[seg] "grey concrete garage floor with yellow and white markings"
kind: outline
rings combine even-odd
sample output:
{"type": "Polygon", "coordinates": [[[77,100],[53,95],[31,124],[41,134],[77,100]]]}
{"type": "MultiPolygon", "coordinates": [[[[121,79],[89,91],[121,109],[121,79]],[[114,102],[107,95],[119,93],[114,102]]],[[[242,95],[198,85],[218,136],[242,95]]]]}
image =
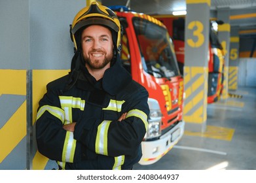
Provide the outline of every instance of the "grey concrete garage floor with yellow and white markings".
{"type": "Polygon", "coordinates": [[[229,91],[229,97],[208,105],[205,133],[185,131],[170,152],[153,165],[135,170],[255,170],[256,88],[229,91]]]}

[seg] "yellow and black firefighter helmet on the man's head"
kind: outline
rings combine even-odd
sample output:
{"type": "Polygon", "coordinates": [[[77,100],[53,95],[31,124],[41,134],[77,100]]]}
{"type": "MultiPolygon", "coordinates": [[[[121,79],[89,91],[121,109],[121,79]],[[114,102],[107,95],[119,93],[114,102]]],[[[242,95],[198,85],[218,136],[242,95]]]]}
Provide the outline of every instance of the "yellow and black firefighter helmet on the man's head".
{"type": "Polygon", "coordinates": [[[103,25],[111,29],[113,42],[117,46],[117,49],[120,49],[120,39],[121,39],[121,26],[119,18],[108,7],[99,5],[96,1],[92,2],[90,6],[82,8],[73,20],[71,25],[71,39],[75,44],[75,50],[80,44],[81,37],[79,34],[81,28],[84,28],[88,25],[103,25]],[[113,34],[114,33],[114,34],[113,34]]]}

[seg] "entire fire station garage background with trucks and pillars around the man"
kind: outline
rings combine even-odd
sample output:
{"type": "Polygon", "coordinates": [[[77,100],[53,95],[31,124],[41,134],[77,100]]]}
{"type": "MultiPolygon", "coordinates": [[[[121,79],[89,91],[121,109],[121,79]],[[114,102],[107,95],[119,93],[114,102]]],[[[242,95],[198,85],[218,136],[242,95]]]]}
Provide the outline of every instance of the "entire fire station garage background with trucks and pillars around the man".
{"type": "MultiPolygon", "coordinates": [[[[92,0],[0,0],[0,169],[58,169],[37,150],[46,84],[69,72],[69,25],[92,0]]],[[[122,65],[149,92],[134,170],[256,169],[256,1],[101,0],[122,65]]]]}

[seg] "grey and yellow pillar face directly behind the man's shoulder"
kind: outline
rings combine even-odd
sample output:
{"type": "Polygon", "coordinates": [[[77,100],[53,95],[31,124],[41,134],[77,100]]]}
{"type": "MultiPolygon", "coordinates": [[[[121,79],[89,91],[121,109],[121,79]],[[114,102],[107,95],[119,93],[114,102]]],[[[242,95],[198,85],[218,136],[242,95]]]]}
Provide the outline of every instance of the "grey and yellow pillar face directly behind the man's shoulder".
{"type": "MultiPolygon", "coordinates": [[[[29,0],[29,121],[32,125],[30,169],[52,169],[54,161],[37,151],[35,119],[38,102],[46,92],[46,84],[67,75],[73,57],[69,24],[86,6],[86,1],[29,0]]],[[[54,167],[56,168],[56,167],[54,167]]]]}

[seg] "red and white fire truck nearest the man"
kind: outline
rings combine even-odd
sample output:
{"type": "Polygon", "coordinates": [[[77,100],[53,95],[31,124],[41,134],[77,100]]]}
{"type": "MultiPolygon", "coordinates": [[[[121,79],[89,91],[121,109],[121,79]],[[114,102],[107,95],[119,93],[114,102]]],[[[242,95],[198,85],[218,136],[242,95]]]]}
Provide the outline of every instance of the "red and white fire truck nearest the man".
{"type": "Polygon", "coordinates": [[[122,64],[149,92],[149,129],[141,165],[158,161],[183,136],[183,76],[171,38],[162,22],[126,7],[110,7],[123,27],[122,64]]]}

